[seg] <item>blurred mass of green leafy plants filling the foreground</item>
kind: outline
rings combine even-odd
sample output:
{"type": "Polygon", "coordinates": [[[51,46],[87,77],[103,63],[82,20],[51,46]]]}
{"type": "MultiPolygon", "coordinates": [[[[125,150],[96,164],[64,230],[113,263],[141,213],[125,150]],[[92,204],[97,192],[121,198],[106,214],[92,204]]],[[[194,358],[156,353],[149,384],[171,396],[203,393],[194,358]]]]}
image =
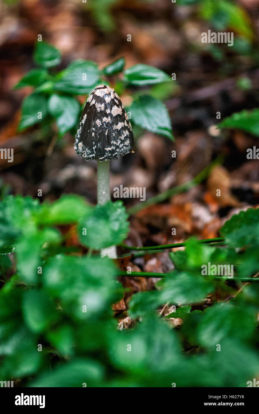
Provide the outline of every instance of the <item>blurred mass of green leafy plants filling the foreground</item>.
{"type": "Polygon", "coordinates": [[[141,321],[122,331],[111,305],[122,298],[123,272],[98,254],[127,237],[121,202],[91,207],[76,195],[52,204],[8,196],[0,229],[2,379],[33,387],[247,387],[256,378],[259,209],[228,220],[223,245],[190,239],[170,253],[175,270],[161,274],[155,290],[133,295],[129,315],[141,321]],[[61,231],[68,224],[82,243],[73,248],[61,231]],[[233,277],[201,272],[212,264],[233,265],[233,277]],[[165,303],[175,311],[159,317],[165,303]],[[180,330],[170,318],[181,318],[180,330]]]}

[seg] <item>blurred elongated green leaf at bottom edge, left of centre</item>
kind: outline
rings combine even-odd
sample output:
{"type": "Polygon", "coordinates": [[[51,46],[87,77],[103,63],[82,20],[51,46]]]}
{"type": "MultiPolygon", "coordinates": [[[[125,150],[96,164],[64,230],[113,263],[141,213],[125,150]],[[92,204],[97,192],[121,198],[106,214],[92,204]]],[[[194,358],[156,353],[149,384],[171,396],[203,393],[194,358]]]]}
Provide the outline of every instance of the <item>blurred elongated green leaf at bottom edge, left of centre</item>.
{"type": "Polygon", "coordinates": [[[76,359],[46,372],[34,380],[30,387],[99,387],[103,380],[104,368],[92,359],[76,359]]]}

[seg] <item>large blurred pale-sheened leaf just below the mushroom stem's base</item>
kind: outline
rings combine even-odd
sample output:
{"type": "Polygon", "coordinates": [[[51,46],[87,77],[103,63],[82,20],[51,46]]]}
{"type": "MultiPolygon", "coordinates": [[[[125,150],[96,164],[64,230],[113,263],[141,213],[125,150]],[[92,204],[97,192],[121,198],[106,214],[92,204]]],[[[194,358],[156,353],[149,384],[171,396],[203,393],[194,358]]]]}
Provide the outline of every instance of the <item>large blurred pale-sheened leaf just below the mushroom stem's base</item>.
{"type": "Polygon", "coordinates": [[[117,288],[112,260],[58,255],[48,260],[42,275],[44,287],[70,318],[80,321],[109,312],[117,288]]]}

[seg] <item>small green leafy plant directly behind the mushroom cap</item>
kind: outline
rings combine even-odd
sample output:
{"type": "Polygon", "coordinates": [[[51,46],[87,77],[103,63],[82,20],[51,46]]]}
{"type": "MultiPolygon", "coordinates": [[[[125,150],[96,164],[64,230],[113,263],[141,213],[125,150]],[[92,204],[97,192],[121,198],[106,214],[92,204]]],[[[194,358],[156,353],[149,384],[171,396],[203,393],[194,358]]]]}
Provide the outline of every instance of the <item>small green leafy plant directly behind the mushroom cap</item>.
{"type": "Polygon", "coordinates": [[[57,72],[55,67],[61,62],[60,52],[45,41],[36,42],[34,62],[38,67],[15,86],[16,89],[34,88],[22,103],[20,131],[39,123],[51,125],[55,122],[59,137],[67,131],[75,135],[83,109],[77,96],[88,95],[98,84],[111,83],[120,96],[130,88],[147,87],[147,90],[133,94],[132,104],[127,108],[133,127],[138,125],[173,140],[168,111],[161,100],[152,96],[150,89],[156,84],[162,87],[167,84],[170,88],[174,82],[162,70],[142,64],[124,70],[125,59],[120,58],[103,70],[91,60],[78,59],[57,72]]]}

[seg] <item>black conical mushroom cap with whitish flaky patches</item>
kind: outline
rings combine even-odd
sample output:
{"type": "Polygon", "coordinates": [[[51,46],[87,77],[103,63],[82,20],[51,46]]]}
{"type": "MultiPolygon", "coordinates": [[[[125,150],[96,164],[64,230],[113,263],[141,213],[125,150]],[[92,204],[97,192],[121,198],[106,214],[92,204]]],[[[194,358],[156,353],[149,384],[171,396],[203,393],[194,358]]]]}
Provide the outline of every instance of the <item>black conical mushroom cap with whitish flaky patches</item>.
{"type": "Polygon", "coordinates": [[[85,103],[74,149],[86,160],[106,161],[132,152],[134,136],[118,94],[97,86],[85,103]]]}

